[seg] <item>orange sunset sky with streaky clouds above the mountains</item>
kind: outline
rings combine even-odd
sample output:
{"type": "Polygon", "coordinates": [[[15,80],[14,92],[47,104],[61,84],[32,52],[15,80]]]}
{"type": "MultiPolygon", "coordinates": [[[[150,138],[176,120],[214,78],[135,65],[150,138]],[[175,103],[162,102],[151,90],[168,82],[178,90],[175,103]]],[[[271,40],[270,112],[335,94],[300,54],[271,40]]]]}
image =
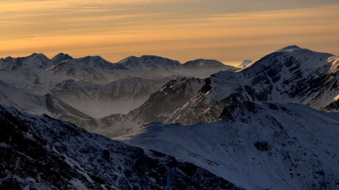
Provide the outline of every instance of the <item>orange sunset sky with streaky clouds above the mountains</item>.
{"type": "Polygon", "coordinates": [[[0,57],[59,52],[117,62],[255,61],[296,44],[339,55],[339,2],[285,0],[1,1],[0,57]]]}

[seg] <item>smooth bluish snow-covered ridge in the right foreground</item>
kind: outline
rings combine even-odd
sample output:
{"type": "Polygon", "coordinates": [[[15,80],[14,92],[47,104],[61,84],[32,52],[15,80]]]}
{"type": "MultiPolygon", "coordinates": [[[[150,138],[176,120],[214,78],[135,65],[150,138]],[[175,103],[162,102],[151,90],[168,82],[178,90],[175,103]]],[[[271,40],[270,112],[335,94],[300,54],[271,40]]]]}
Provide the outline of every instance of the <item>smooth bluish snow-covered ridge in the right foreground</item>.
{"type": "Polygon", "coordinates": [[[247,101],[220,117],[194,125],[150,122],[118,139],[194,163],[244,189],[339,188],[339,113],[247,101]]]}

